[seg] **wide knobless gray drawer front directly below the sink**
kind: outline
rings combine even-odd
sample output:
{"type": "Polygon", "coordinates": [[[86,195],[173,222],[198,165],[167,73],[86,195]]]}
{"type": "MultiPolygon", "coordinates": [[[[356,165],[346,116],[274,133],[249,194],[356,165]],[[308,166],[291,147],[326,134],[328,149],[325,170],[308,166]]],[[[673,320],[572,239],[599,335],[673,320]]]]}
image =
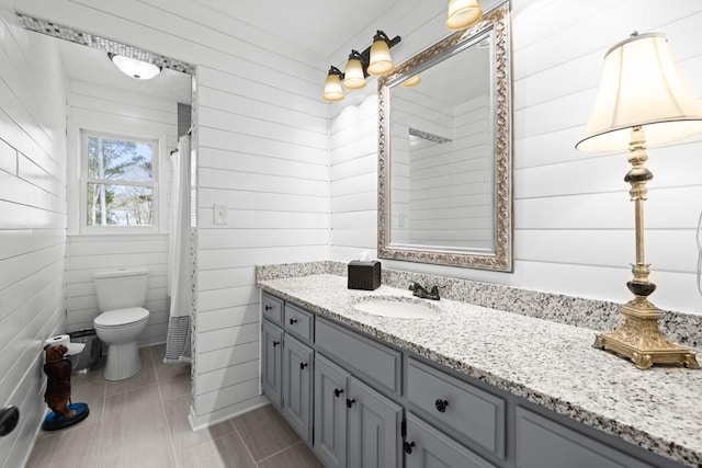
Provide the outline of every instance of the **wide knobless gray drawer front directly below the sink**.
{"type": "Polygon", "coordinates": [[[394,393],[401,392],[400,352],[324,319],[317,319],[315,342],[359,374],[394,393]]]}

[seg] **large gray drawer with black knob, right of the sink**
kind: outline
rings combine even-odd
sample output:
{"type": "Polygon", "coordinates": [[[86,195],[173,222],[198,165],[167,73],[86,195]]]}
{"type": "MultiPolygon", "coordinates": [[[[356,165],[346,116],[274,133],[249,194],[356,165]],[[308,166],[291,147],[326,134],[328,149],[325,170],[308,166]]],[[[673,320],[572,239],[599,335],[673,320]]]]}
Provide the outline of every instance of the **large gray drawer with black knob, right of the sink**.
{"type": "Polygon", "coordinates": [[[409,359],[407,398],[456,438],[505,458],[506,401],[419,361],[409,359]]]}

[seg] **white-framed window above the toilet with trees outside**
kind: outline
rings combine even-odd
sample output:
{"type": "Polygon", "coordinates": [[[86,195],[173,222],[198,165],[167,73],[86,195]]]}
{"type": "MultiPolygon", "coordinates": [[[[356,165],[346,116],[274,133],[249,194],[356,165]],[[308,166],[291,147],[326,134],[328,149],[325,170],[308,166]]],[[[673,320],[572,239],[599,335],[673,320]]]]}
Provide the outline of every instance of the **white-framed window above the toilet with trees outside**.
{"type": "Polygon", "coordinates": [[[81,137],[83,228],[157,227],[158,140],[86,130],[81,137]]]}

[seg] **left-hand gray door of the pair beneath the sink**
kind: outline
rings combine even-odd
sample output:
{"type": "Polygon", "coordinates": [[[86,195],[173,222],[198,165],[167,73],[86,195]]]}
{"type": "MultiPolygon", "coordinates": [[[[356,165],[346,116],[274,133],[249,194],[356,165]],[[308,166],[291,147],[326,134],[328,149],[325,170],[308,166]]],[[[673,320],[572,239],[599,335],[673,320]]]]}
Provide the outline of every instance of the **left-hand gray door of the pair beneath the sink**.
{"type": "Polygon", "coordinates": [[[347,379],[326,357],[315,358],[315,452],[327,468],[347,466],[347,379]]]}

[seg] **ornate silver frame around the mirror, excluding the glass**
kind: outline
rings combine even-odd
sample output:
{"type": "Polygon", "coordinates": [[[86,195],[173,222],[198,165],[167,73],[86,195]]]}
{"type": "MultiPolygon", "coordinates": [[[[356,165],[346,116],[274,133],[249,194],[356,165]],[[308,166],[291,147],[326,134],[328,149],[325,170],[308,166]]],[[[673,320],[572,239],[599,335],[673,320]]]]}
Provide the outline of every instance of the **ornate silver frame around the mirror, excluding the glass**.
{"type": "Polygon", "coordinates": [[[378,79],[378,193],[377,255],[381,259],[435,263],[450,266],[512,271],[512,80],[509,37],[509,3],[494,9],[479,23],[460,31],[422,50],[399,65],[390,75],[378,79]],[[451,55],[472,38],[494,30],[494,123],[495,123],[495,249],[492,253],[421,250],[390,246],[390,87],[412,70],[451,55]]]}

